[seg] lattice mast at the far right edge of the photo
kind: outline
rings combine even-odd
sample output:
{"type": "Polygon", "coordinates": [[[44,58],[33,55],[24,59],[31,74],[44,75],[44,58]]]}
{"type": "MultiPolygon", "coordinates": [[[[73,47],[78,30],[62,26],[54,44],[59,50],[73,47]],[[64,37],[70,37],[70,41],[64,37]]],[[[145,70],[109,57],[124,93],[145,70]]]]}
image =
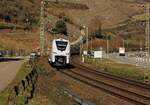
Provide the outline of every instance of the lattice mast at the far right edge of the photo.
{"type": "Polygon", "coordinates": [[[146,37],[145,37],[145,51],[150,53],[150,5],[146,4],[146,37]]]}

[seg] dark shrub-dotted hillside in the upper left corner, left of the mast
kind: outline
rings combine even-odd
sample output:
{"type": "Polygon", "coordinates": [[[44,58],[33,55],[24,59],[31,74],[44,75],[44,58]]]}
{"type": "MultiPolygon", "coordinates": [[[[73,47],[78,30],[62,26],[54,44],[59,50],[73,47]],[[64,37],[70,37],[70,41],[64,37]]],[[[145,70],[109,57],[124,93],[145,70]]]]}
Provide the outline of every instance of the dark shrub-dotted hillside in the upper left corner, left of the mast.
{"type": "Polygon", "coordinates": [[[40,0],[1,0],[0,19],[16,24],[30,24],[39,21],[40,0]],[[36,11],[36,12],[35,12],[36,11]]]}

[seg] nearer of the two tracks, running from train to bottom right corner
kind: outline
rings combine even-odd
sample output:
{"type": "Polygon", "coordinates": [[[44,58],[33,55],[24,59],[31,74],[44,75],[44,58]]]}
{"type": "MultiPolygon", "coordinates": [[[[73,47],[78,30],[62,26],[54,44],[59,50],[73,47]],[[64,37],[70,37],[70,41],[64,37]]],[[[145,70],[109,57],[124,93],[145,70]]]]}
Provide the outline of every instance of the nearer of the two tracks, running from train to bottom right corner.
{"type": "Polygon", "coordinates": [[[91,87],[97,88],[99,90],[103,90],[103,91],[105,91],[109,94],[112,94],[112,95],[116,96],[116,97],[119,97],[121,99],[125,99],[126,101],[130,101],[132,103],[135,103],[136,105],[148,105],[149,104],[149,102],[147,102],[147,100],[149,100],[149,98],[147,98],[147,97],[138,95],[138,100],[136,100],[135,97],[137,96],[137,94],[135,94],[135,93],[133,93],[134,97],[133,96],[128,97],[125,94],[131,94],[130,92],[126,91],[125,94],[122,94],[122,93],[120,94],[120,93],[118,93],[118,91],[116,92],[116,90],[122,91],[121,89],[113,87],[113,86],[105,84],[105,83],[102,83],[98,80],[89,78],[87,76],[83,76],[83,75],[78,74],[78,73],[74,73],[72,71],[70,72],[71,74],[69,73],[69,71],[61,71],[61,72],[65,75],[75,79],[75,80],[80,81],[81,83],[85,83],[85,84],[87,84],[91,87]],[[92,81],[92,82],[90,82],[90,81],[92,81]],[[109,89],[110,87],[111,87],[111,89],[112,88],[115,89],[115,91],[109,89]],[[139,98],[140,98],[140,100],[139,100],[139,98]],[[141,101],[141,98],[144,98],[144,101],[141,101]]]}

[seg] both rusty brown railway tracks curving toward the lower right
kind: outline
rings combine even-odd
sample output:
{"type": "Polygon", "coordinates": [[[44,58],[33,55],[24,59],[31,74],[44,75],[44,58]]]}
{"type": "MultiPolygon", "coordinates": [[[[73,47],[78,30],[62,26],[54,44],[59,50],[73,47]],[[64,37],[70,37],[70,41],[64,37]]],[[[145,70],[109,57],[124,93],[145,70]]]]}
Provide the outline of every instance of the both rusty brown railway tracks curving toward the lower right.
{"type": "Polygon", "coordinates": [[[135,105],[150,105],[150,85],[100,72],[78,63],[74,65],[76,69],[62,73],[135,105]]]}

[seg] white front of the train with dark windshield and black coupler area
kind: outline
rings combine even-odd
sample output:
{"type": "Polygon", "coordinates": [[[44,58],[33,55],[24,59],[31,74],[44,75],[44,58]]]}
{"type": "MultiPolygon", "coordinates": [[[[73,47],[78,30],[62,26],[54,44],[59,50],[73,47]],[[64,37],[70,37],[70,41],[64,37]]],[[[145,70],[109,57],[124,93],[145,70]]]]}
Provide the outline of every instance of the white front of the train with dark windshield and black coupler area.
{"type": "Polygon", "coordinates": [[[52,63],[56,66],[65,66],[70,61],[70,42],[65,39],[54,39],[51,52],[52,63]]]}

